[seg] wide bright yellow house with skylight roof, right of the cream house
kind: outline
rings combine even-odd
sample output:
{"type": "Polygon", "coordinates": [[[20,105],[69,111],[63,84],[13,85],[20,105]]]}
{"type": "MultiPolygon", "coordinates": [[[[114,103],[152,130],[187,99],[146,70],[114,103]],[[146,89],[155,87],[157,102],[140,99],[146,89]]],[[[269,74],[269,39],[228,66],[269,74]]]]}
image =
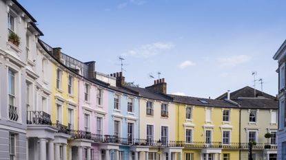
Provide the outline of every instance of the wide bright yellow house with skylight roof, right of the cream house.
{"type": "Polygon", "coordinates": [[[240,109],[225,100],[171,95],[183,159],[239,159],[240,109]]]}

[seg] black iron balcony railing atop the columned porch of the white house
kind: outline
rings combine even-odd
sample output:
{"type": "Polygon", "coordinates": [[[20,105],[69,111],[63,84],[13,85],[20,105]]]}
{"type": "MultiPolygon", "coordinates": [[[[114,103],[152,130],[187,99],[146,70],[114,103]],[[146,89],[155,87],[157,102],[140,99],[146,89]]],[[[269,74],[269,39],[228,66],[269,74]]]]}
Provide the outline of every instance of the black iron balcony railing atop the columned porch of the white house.
{"type": "Polygon", "coordinates": [[[50,115],[44,111],[27,111],[27,124],[52,125],[50,115]]]}

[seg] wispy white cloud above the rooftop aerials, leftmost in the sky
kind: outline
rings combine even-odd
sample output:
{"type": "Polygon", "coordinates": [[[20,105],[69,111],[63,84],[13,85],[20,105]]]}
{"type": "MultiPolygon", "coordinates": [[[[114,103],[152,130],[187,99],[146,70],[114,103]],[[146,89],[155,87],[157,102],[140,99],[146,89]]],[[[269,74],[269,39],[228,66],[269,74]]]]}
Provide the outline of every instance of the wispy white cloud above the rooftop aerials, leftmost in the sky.
{"type": "Polygon", "coordinates": [[[156,56],[161,52],[172,49],[174,47],[173,43],[152,43],[147,45],[141,45],[140,47],[136,47],[127,51],[127,53],[123,54],[123,56],[134,56],[137,58],[150,58],[152,56],[156,56]]]}

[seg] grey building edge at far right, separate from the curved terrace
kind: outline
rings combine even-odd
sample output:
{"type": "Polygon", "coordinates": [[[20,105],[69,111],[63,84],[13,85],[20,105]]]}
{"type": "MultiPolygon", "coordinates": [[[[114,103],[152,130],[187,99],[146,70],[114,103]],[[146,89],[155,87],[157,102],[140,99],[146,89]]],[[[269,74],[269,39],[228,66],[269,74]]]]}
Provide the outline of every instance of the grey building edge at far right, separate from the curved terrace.
{"type": "Polygon", "coordinates": [[[281,45],[274,60],[278,60],[278,99],[279,99],[279,126],[278,126],[278,159],[286,159],[286,80],[285,80],[285,62],[286,62],[286,41],[281,45]]]}

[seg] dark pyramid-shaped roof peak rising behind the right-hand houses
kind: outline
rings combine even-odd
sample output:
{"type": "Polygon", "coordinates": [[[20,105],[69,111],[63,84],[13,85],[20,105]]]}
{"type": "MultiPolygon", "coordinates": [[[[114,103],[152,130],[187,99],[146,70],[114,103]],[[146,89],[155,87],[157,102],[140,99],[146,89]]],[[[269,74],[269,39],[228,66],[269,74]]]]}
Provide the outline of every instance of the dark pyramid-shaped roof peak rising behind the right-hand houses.
{"type": "MultiPolygon", "coordinates": [[[[259,91],[258,89],[256,89],[256,95],[263,95],[264,98],[269,98],[272,100],[276,99],[276,97],[274,97],[273,95],[269,95],[265,92],[259,91]]],[[[226,98],[227,98],[227,93],[223,93],[223,95],[219,96],[216,99],[224,100],[226,98]]],[[[230,93],[230,100],[236,100],[238,98],[255,98],[254,88],[247,86],[230,93]]]]}

